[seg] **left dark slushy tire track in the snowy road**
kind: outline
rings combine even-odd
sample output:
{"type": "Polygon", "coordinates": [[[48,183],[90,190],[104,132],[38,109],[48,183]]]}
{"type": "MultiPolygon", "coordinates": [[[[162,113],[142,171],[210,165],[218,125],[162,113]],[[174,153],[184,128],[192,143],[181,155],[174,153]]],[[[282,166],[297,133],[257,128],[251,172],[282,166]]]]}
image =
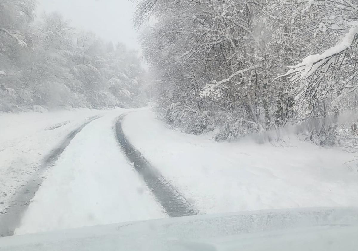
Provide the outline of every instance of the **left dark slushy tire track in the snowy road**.
{"type": "Polygon", "coordinates": [[[100,117],[101,116],[97,115],[87,119],[87,121],[80,127],[69,133],[62,143],[57,148],[52,150],[47,157],[45,157],[42,165],[38,169],[37,174],[35,174],[28,181],[26,186],[23,186],[23,188],[16,193],[16,197],[13,200],[12,206],[9,208],[8,212],[0,215],[0,237],[11,236],[14,234],[15,229],[19,227],[23,213],[30,204],[30,200],[34,198],[36,191],[42,184],[44,172],[54,165],[77,133],[81,132],[87,124],[100,117]]]}

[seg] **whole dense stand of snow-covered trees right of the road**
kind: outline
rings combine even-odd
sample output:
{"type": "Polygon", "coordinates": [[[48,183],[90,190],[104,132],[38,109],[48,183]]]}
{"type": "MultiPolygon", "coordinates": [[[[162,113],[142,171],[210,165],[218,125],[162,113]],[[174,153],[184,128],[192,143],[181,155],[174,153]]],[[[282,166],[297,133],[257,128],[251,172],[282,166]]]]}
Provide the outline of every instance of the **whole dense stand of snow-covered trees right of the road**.
{"type": "Polygon", "coordinates": [[[357,106],[356,0],[134,1],[158,112],[186,132],[230,139],[357,106]]]}

